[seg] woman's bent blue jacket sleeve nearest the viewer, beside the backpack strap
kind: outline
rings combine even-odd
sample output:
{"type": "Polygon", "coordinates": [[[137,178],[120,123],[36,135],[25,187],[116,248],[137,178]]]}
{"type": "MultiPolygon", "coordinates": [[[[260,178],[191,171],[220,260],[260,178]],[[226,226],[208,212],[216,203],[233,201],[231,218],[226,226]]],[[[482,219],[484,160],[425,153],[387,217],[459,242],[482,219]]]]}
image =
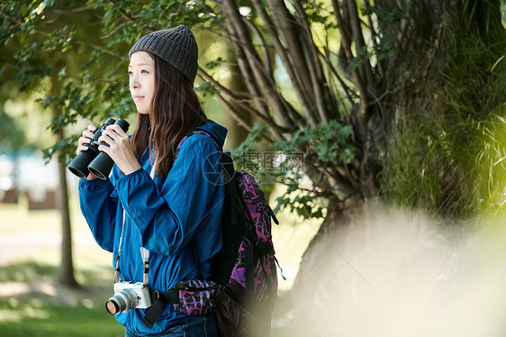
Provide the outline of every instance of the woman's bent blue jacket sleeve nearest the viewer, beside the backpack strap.
{"type": "Polygon", "coordinates": [[[212,202],[220,172],[214,143],[195,134],[183,141],[160,192],[144,169],[118,178],[119,199],[140,232],[142,246],[165,255],[184,248],[206,223],[212,207],[222,205],[212,202]]]}

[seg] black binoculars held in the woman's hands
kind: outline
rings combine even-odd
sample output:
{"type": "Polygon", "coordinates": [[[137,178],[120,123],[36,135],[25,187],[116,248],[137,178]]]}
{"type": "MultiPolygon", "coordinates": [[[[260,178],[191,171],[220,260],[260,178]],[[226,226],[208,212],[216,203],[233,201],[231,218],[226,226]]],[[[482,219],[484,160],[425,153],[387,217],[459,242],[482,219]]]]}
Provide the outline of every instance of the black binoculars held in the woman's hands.
{"type": "Polygon", "coordinates": [[[115,121],[113,118],[109,118],[105,121],[104,125],[93,134],[92,141],[89,144],[85,144],[88,150],[81,151],[70,164],[68,164],[68,170],[74,173],[77,177],[86,179],[88,174],[93,172],[96,177],[106,179],[111,173],[114,161],[105,152],[98,150],[100,145],[109,146],[106,142],[98,142],[98,139],[105,131],[107,126],[112,124],[118,124],[124,132],[128,131],[130,124],[122,118],[118,118],[115,121]]]}

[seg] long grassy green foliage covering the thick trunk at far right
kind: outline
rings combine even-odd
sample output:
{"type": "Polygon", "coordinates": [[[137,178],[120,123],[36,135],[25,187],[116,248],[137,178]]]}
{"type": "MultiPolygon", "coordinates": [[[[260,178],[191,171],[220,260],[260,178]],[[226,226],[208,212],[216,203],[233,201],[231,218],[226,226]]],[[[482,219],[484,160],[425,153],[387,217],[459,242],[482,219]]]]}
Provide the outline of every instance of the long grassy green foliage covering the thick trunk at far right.
{"type": "Polygon", "coordinates": [[[506,66],[497,55],[506,40],[499,33],[494,45],[473,34],[447,36],[443,85],[427,87],[440,103],[413,106],[382,173],[386,199],[457,217],[503,207],[506,66]]]}

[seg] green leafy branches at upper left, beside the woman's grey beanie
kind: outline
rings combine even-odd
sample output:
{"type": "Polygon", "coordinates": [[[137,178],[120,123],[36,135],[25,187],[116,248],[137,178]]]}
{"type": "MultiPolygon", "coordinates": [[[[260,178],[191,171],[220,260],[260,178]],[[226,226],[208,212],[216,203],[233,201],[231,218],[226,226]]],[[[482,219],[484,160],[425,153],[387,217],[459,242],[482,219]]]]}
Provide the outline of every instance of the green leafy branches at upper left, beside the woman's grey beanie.
{"type": "MultiPolygon", "coordinates": [[[[135,112],[125,70],[133,41],[152,27],[197,20],[210,26],[208,15],[194,16],[206,5],[186,3],[2,2],[0,44],[7,51],[1,56],[2,83],[14,80],[22,91],[41,91],[43,109],[58,106],[60,114],[49,125],[55,134],[83,118],[95,124],[108,117],[127,118],[135,112]],[[50,91],[49,77],[58,77],[56,93],[50,91]]],[[[59,159],[68,162],[75,140],[73,136],[44,150],[46,159],[59,152],[59,159]]]]}

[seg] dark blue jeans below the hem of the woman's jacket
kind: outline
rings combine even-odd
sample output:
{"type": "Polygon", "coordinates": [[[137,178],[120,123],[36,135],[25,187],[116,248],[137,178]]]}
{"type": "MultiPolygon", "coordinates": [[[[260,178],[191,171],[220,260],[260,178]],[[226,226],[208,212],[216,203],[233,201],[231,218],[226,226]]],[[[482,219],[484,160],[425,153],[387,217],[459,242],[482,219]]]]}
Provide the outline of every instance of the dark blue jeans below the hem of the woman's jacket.
{"type": "MultiPolygon", "coordinates": [[[[149,335],[152,337],[216,337],[218,331],[214,314],[194,316],[191,320],[181,325],[173,326],[165,332],[149,335]]],[[[140,337],[125,329],[125,337],[140,337]]]]}

